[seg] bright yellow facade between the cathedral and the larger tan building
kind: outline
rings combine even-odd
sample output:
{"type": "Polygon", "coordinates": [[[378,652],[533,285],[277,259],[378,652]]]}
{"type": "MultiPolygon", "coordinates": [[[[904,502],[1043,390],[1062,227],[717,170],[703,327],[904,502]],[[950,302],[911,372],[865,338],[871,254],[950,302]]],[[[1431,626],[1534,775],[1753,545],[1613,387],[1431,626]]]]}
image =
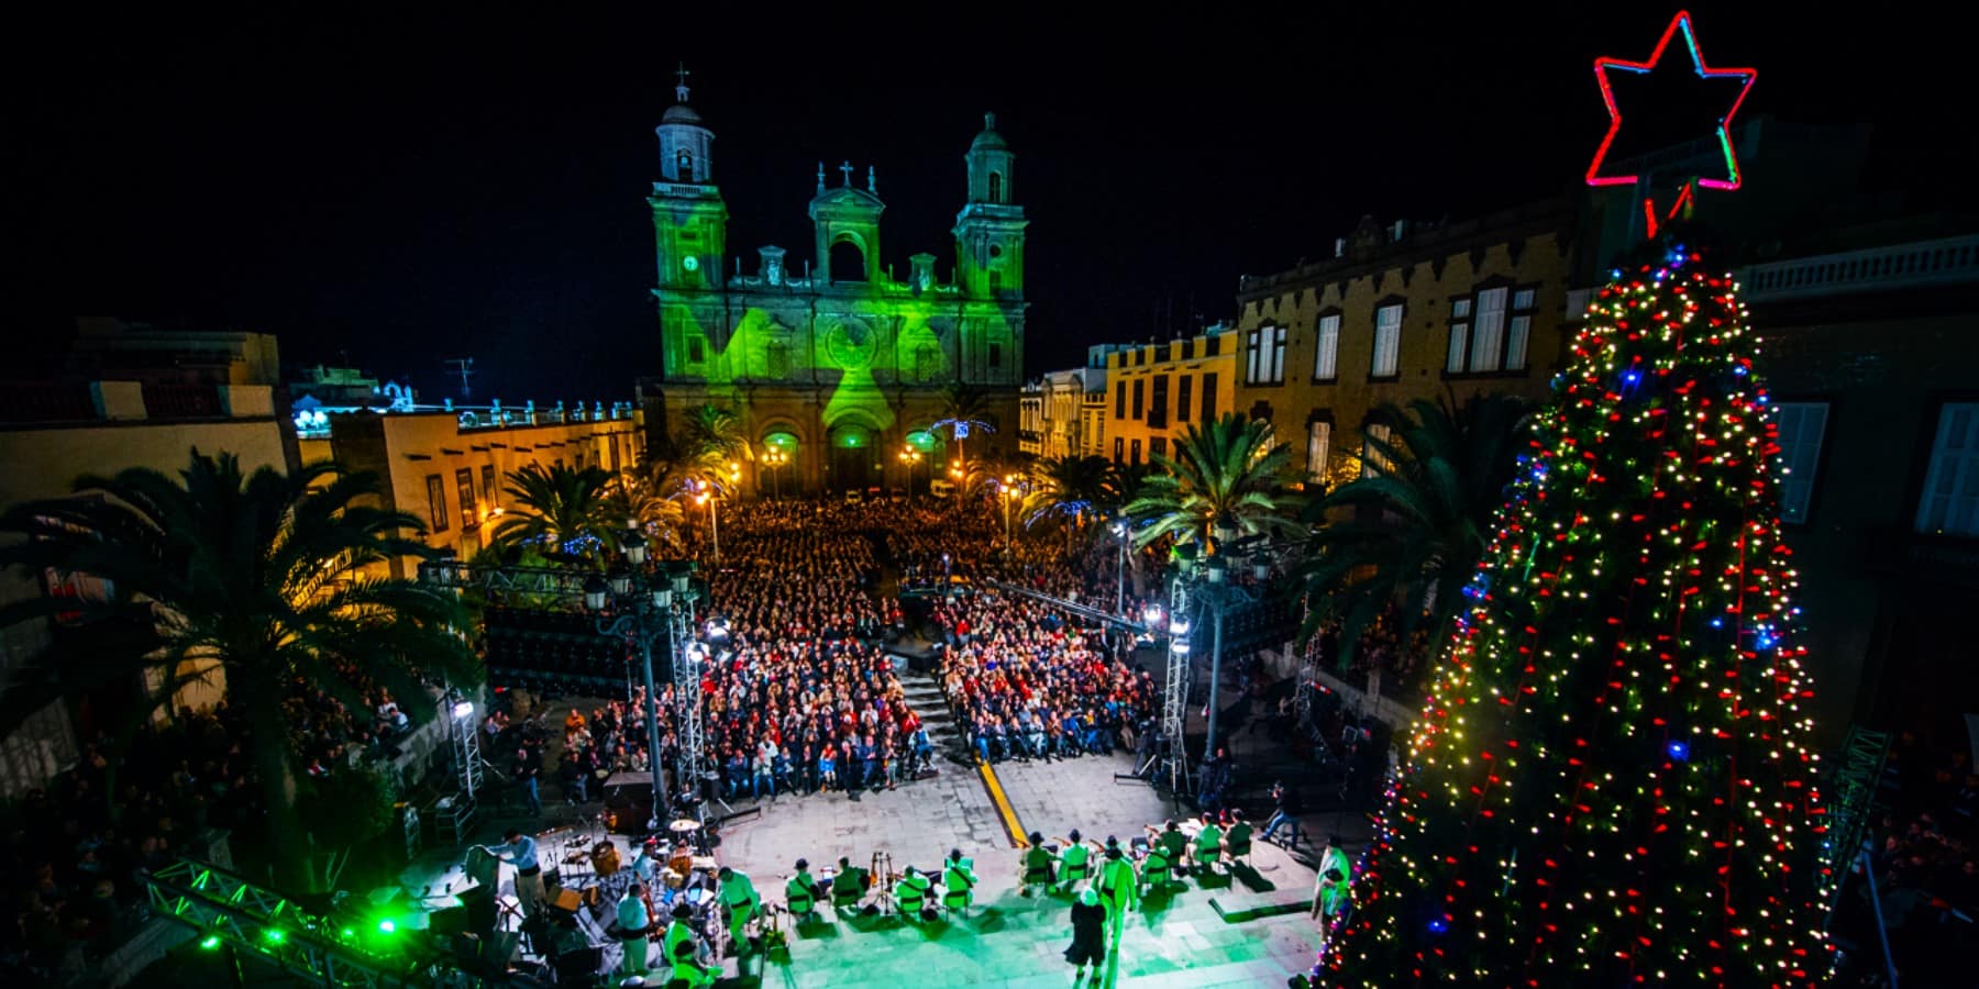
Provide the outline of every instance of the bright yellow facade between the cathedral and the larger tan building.
{"type": "Polygon", "coordinates": [[[1122,467],[1150,463],[1170,455],[1191,423],[1235,409],[1235,342],[1233,332],[1211,328],[1108,352],[1104,455],[1122,467]]]}

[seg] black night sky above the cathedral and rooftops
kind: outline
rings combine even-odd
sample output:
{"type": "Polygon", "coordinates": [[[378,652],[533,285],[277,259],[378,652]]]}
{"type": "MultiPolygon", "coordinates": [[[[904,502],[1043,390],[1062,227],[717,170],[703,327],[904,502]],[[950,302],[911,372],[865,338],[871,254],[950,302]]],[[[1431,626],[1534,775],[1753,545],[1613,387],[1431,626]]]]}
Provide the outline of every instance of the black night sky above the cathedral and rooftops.
{"type": "MultiPolygon", "coordinates": [[[[849,158],[879,168],[883,263],[904,273],[924,249],[946,273],[962,152],[995,111],[1031,218],[1037,374],[1088,342],[1229,316],[1237,275],[1320,257],[1362,214],[1461,218],[1575,184],[1607,125],[1591,59],[1647,57],[1676,10],[1193,4],[1170,20],[1140,4],[1084,26],[1065,14],[1084,4],[1033,20],[726,6],[748,14],[200,22],[172,6],[18,34],[16,336],[79,313],[178,318],[277,332],[295,364],[348,354],[427,398],[453,394],[455,356],[475,358],[479,398],[629,398],[659,356],[643,196],[685,59],[750,271],[770,241],[801,267],[815,162],[849,158]]],[[[1742,115],[1872,121],[1890,186],[1969,166],[1969,150],[1945,160],[1963,109],[1941,107],[1971,85],[1955,32],[1920,20],[1935,14],[1694,14],[1708,61],[1759,67],[1742,115]]],[[[1656,99],[1688,123],[1645,135],[1706,133],[1682,79],[1658,73],[1656,99]]]]}

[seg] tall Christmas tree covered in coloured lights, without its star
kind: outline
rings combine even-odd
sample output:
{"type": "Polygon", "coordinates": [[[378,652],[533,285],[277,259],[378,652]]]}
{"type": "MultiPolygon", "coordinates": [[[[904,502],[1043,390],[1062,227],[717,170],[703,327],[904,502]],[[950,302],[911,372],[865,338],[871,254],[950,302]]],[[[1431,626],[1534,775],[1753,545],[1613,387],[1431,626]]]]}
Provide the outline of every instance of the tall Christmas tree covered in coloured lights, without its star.
{"type": "Polygon", "coordinates": [[[1601,291],[1464,591],[1328,957],[1342,985],[1829,967],[1777,441],[1730,277],[1601,291]]]}

